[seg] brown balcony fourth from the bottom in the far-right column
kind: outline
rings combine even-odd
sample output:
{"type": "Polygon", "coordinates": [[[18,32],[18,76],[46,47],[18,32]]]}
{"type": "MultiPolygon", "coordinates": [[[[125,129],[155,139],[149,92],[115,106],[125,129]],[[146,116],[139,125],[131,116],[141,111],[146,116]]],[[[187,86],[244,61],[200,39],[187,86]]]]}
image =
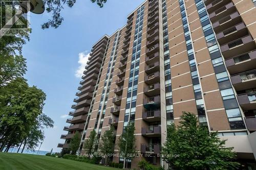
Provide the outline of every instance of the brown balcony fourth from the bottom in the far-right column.
{"type": "Polygon", "coordinates": [[[256,51],[244,53],[242,55],[230,58],[225,61],[230,74],[237,74],[255,68],[256,65],[256,51]],[[250,61],[250,62],[248,62],[250,61]]]}

